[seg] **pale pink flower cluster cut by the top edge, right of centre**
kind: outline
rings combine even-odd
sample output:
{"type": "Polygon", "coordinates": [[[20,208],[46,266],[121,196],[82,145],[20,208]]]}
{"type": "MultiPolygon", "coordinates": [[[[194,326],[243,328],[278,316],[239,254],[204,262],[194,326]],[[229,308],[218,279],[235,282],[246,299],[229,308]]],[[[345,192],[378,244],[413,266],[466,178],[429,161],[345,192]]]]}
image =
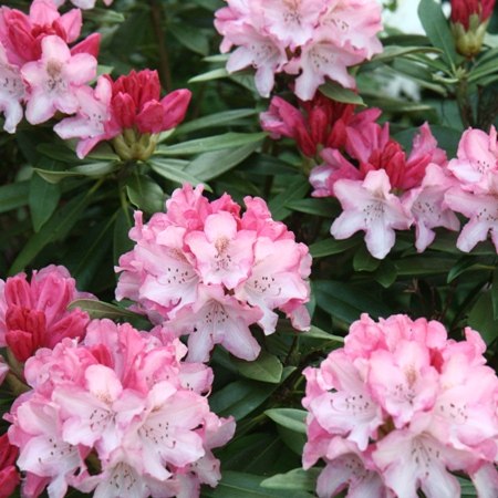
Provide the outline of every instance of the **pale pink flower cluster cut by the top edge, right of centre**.
{"type": "Polygon", "coordinates": [[[382,50],[381,6],[374,0],[227,2],[215,21],[221,52],[237,46],[227,70],[252,65],[262,96],[270,95],[278,73],[297,76],[294,91],[303,101],[326,79],[354,87],[347,68],[382,50]]]}

